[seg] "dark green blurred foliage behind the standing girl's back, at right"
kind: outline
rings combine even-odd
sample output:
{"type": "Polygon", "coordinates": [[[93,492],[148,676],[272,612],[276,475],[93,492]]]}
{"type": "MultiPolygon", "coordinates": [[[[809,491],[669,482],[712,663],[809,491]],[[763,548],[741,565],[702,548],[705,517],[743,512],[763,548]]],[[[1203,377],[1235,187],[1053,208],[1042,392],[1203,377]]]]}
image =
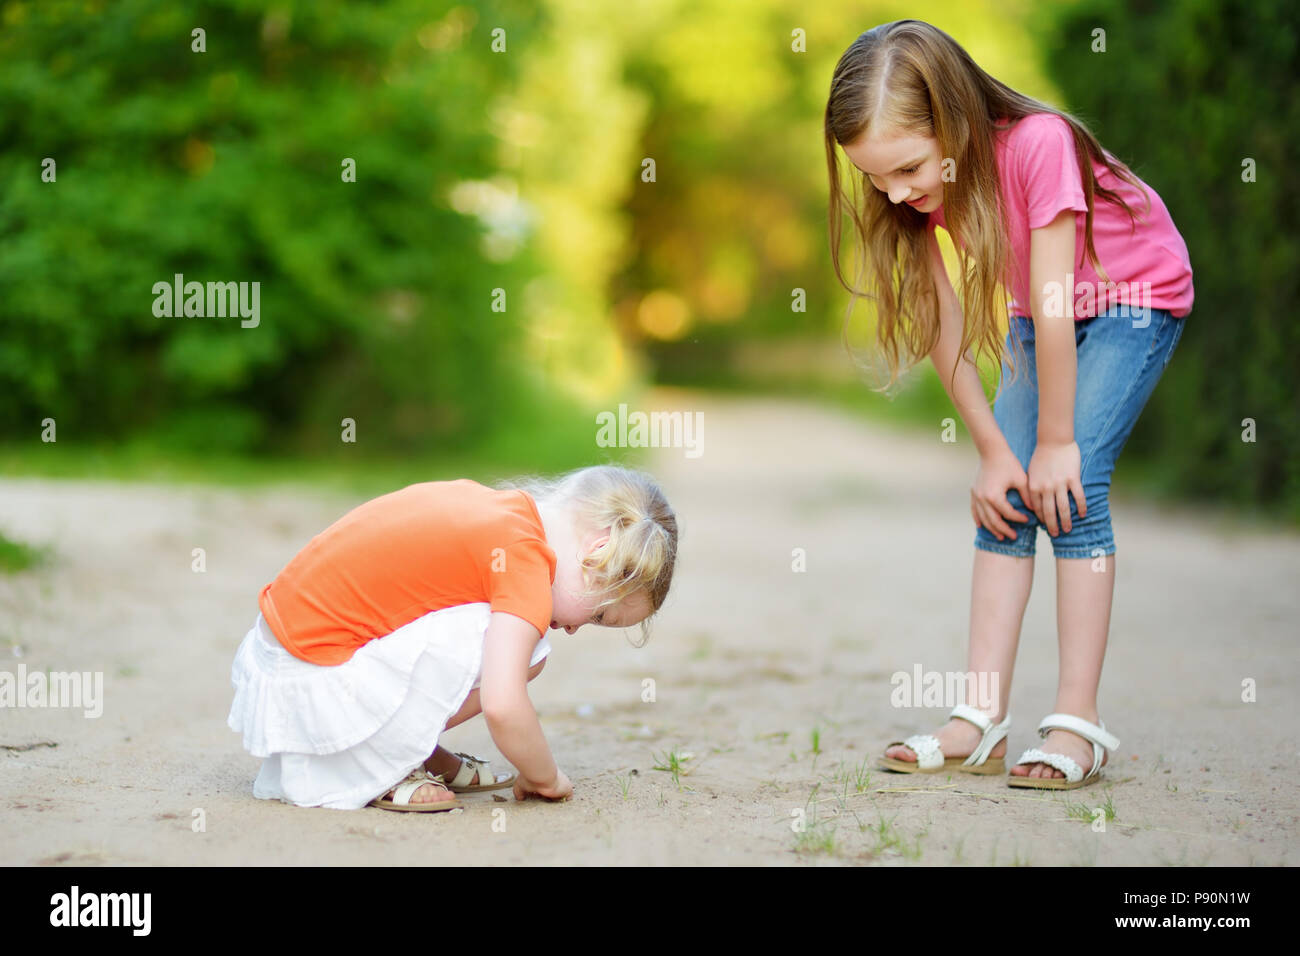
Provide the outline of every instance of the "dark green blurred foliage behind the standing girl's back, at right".
{"type": "Polygon", "coordinates": [[[1300,7],[1101,0],[1050,8],[1040,26],[1063,105],[1160,193],[1195,272],[1187,330],[1130,454],[1173,490],[1300,520],[1300,7]]]}

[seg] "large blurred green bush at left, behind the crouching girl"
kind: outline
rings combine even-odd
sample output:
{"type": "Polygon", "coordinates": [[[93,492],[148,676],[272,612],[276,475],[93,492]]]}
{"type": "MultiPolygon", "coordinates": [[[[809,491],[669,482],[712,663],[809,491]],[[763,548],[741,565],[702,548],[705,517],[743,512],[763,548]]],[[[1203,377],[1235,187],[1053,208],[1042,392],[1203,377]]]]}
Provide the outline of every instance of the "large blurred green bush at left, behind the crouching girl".
{"type": "Polygon", "coordinates": [[[519,310],[490,310],[529,256],[489,261],[448,203],[495,169],[490,104],[517,57],[488,31],[532,7],[3,7],[0,437],[53,418],[60,441],[311,450],[352,418],[413,450],[536,397],[519,310]],[[176,273],[259,282],[260,324],[155,316],[176,273]]]}

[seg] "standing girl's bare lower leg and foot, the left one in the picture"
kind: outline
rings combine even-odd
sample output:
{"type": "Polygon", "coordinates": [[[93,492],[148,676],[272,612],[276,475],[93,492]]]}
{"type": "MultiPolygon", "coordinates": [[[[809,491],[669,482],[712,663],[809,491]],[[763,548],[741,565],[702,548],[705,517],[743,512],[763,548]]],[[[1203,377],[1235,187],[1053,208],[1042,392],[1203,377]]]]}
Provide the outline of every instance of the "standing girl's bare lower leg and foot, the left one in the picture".
{"type": "MultiPolygon", "coordinates": [[[[1009,554],[975,549],[975,564],[971,571],[971,630],[970,652],[966,659],[967,671],[976,678],[980,674],[997,675],[997,713],[989,714],[994,723],[1006,717],[1006,704],[1011,696],[1011,675],[1015,669],[1015,652],[1020,643],[1020,624],[1024,620],[1024,606],[1030,601],[1034,587],[1034,558],[1013,558],[1009,554]]],[[[966,702],[988,713],[978,698],[979,680],[967,687],[966,702]]],[[[953,718],[935,734],[948,757],[968,757],[980,741],[979,730],[967,721],[953,718]]],[[[1006,754],[1004,739],[989,753],[991,757],[1006,754]]],[[[887,757],[915,761],[916,754],[909,747],[890,747],[887,757]]]]}

